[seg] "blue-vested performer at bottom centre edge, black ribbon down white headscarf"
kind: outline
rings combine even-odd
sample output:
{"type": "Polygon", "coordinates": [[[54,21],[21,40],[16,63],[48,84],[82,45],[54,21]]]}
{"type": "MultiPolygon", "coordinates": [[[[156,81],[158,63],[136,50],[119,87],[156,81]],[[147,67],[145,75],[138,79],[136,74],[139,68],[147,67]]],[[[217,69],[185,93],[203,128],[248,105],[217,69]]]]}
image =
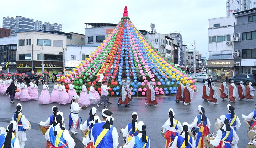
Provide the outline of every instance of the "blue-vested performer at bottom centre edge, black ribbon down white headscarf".
{"type": "Polygon", "coordinates": [[[124,144],[122,148],[150,148],[151,143],[148,136],[146,136],[146,125],[142,121],[138,123],[137,136],[132,137],[128,144],[124,144]]]}

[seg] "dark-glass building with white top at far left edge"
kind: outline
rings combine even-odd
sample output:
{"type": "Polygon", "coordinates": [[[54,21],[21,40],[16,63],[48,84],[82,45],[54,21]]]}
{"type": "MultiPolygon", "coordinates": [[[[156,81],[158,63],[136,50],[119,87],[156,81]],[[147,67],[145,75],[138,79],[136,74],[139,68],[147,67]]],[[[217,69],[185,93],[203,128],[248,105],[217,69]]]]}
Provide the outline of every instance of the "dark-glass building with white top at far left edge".
{"type": "Polygon", "coordinates": [[[0,38],[0,66],[1,73],[15,73],[16,71],[17,36],[0,38]]]}

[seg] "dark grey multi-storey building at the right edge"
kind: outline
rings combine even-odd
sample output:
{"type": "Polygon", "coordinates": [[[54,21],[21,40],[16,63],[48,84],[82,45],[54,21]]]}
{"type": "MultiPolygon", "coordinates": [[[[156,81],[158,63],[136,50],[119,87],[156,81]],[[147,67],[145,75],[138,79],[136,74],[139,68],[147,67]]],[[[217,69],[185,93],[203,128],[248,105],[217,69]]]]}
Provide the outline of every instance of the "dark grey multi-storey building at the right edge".
{"type": "Polygon", "coordinates": [[[234,60],[238,73],[256,73],[256,8],[234,13],[237,23],[234,34],[234,60]]]}

